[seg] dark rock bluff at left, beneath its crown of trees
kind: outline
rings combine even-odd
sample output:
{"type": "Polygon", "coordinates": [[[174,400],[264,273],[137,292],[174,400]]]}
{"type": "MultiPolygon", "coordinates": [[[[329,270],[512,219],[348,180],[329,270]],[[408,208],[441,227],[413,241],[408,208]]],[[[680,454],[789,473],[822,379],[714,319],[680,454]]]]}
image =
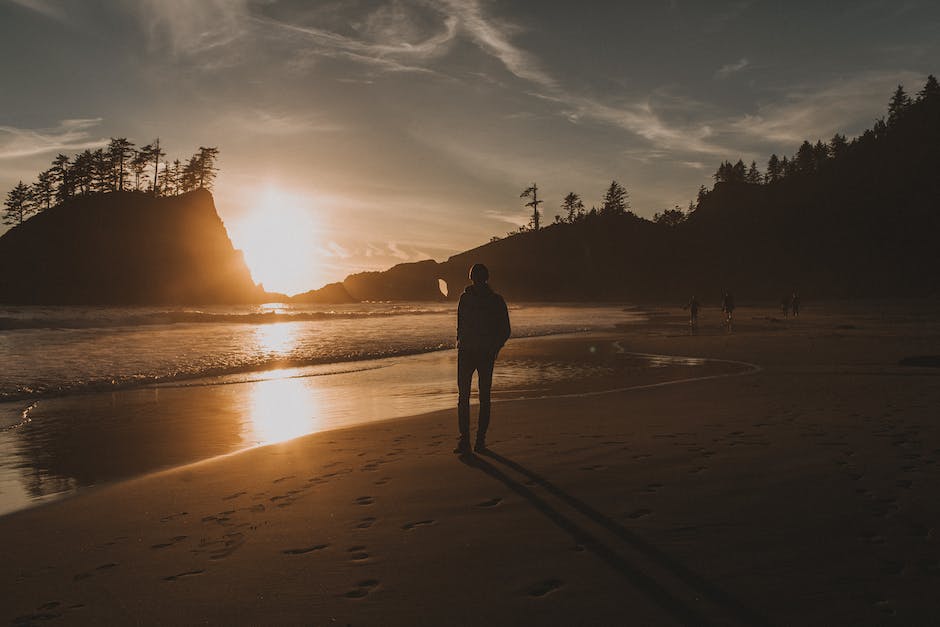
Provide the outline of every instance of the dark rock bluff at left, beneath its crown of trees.
{"type": "Polygon", "coordinates": [[[0,302],[234,304],[264,300],[205,190],[73,199],[0,237],[0,302]]]}

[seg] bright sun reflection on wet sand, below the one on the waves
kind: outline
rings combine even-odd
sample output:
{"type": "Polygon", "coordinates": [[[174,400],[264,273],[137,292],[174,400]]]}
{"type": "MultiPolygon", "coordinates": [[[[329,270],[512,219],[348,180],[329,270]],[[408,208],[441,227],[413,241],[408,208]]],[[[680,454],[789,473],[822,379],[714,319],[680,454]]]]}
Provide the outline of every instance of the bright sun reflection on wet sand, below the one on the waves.
{"type": "Polygon", "coordinates": [[[320,428],[318,395],[303,379],[269,379],[251,386],[248,433],[254,444],[283,442],[320,428]]]}

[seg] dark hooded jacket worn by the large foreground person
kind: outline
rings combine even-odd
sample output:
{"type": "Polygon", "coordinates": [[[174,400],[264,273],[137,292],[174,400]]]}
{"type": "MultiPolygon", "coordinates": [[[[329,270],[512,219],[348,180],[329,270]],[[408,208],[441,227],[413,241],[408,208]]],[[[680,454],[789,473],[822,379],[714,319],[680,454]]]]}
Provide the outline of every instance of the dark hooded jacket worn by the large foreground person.
{"type": "Polygon", "coordinates": [[[468,285],[457,305],[457,346],[495,358],[511,333],[503,297],[489,285],[468,285]]]}

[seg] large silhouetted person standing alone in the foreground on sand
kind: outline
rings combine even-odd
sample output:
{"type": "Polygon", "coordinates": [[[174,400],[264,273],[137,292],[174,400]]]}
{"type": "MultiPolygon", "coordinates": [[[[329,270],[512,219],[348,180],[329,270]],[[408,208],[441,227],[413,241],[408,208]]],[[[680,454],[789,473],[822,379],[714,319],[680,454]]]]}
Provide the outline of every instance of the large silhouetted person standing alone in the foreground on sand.
{"type": "Polygon", "coordinates": [[[490,272],[482,263],[470,268],[470,280],[457,305],[457,428],[460,437],[455,453],[470,451],[470,385],[477,373],[480,389],[480,419],[474,449],[486,448],[490,426],[490,389],[496,356],[509,339],[509,310],[503,297],[490,289],[490,272]]]}

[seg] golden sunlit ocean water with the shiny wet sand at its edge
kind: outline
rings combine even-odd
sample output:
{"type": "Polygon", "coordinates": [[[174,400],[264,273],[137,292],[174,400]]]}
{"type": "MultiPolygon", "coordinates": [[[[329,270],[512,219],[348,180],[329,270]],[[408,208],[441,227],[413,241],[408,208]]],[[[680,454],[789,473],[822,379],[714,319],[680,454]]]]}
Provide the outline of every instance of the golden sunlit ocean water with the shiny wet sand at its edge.
{"type": "MultiPolygon", "coordinates": [[[[453,406],[456,306],[0,308],[0,514],[305,433],[453,406]]],[[[511,306],[513,337],[623,306],[511,306]]],[[[517,392],[590,373],[501,363],[517,392]]]]}

